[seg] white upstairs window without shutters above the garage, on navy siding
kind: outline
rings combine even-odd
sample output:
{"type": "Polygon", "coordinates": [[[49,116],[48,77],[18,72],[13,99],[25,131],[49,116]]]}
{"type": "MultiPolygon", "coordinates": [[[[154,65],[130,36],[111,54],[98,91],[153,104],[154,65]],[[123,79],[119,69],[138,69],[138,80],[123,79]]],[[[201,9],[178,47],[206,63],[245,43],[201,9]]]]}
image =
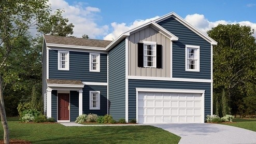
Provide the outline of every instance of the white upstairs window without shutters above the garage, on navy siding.
{"type": "Polygon", "coordinates": [[[200,46],[186,45],[186,71],[200,71],[200,46]]]}

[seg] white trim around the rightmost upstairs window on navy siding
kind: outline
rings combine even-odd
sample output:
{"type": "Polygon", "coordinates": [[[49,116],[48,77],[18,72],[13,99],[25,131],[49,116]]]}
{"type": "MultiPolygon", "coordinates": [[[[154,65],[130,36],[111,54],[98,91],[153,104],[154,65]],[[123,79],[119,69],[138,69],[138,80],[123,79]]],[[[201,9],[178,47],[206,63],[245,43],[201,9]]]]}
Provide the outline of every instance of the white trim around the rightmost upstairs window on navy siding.
{"type": "Polygon", "coordinates": [[[193,45],[186,45],[186,51],[185,51],[185,70],[186,71],[200,71],[200,46],[193,46],[193,45]],[[188,48],[193,48],[197,49],[196,54],[197,54],[197,62],[196,62],[196,69],[189,69],[188,68],[188,48]]]}

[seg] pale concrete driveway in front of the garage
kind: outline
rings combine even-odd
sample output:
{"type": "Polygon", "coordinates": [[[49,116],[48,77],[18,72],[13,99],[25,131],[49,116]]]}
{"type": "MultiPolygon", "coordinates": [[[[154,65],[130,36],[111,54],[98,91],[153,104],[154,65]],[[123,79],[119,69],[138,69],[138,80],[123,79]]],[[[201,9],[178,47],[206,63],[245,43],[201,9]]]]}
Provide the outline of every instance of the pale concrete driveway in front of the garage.
{"type": "Polygon", "coordinates": [[[181,137],[179,143],[256,143],[256,132],[222,124],[152,124],[181,137]]]}

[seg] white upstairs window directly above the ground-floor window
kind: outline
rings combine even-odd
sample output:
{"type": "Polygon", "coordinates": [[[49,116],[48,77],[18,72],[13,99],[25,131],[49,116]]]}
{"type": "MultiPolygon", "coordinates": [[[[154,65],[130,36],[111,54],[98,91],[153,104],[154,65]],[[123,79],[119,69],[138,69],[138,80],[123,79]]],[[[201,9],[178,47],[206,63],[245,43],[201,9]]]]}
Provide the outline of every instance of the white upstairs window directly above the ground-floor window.
{"type": "Polygon", "coordinates": [[[99,53],[90,53],[90,71],[99,72],[101,57],[99,53]]]}

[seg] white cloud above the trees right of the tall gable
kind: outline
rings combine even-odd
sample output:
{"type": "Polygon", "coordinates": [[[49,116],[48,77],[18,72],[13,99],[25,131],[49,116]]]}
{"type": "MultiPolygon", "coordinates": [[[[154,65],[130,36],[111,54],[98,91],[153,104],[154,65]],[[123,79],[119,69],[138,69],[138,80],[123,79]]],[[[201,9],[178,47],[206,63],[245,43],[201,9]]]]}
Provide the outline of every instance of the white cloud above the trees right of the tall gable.
{"type": "MultiPolygon", "coordinates": [[[[198,28],[198,30],[200,30],[204,33],[206,33],[207,31],[211,30],[212,27],[216,27],[219,24],[237,24],[237,23],[239,23],[240,25],[250,26],[252,29],[256,30],[256,23],[252,23],[249,21],[231,22],[231,21],[225,21],[225,20],[210,22],[204,17],[204,15],[199,15],[197,13],[195,13],[193,15],[186,16],[185,20],[187,22],[189,22],[191,25],[198,28]]],[[[256,33],[254,33],[253,36],[256,37],[256,33]]]]}

